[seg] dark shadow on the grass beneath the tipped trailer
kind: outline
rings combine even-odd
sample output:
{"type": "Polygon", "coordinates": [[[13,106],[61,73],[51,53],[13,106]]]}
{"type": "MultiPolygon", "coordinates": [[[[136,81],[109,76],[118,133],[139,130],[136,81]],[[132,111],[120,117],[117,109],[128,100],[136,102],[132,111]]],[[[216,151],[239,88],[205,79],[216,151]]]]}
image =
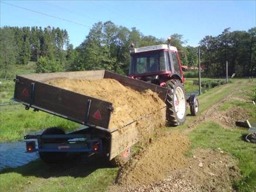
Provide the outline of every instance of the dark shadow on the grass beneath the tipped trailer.
{"type": "Polygon", "coordinates": [[[108,161],[98,156],[87,158],[79,156],[58,164],[46,164],[38,159],[24,166],[17,168],[5,168],[0,171],[4,173],[19,173],[23,176],[35,176],[38,178],[70,176],[74,178],[86,177],[90,173],[100,168],[111,168],[108,161]],[[104,163],[105,162],[105,163],[104,163]]]}

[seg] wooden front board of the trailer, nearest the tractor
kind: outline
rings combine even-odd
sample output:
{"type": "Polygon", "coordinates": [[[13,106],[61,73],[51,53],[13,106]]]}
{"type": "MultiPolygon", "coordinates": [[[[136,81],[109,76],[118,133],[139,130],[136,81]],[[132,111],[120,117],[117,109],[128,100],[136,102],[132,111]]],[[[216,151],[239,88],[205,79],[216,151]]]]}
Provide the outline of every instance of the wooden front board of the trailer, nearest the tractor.
{"type": "Polygon", "coordinates": [[[163,101],[165,101],[166,99],[167,89],[164,87],[160,87],[152,83],[140,81],[138,79],[133,79],[131,77],[119,75],[117,73],[113,73],[110,71],[105,71],[104,78],[116,79],[124,86],[128,86],[137,91],[144,91],[146,89],[151,89],[152,91],[156,92],[163,101]]]}

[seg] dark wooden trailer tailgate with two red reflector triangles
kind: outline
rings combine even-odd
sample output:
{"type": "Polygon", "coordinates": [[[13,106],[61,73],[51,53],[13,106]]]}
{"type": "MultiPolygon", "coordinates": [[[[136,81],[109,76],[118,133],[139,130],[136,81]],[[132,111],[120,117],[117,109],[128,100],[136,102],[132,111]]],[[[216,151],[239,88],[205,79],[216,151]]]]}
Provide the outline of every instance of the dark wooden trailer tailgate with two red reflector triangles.
{"type": "Polygon", "coordinates": [[[21,76],[16,78],[15,100],[77,123],[108,128],[112,103],[21,76]]]}

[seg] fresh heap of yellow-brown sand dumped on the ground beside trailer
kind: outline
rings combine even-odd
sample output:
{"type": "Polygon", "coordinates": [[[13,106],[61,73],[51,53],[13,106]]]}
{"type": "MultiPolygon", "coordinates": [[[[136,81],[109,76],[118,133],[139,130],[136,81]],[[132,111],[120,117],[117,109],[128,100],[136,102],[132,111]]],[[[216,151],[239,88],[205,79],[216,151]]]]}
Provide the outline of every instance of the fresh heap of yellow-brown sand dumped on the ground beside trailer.
{"type": "Polygon", "coordinates": [[[120,170],[117,184],[129,190],[164,179],[171,169],[187,164],[183,154],[189,147],[190,141],[179,132],[158,137],[142,154],[138,154],[120,170]]]}

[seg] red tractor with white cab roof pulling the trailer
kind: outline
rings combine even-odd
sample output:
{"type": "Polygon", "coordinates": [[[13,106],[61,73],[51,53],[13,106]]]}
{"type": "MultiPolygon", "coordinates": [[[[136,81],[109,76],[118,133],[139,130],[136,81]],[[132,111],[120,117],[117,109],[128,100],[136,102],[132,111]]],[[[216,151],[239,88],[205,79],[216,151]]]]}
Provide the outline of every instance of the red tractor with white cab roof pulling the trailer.
{"type": "MultiPolygon", "coordinates": [[[[168,42],[170,42],[168,38],[168,42]]],[[[186,102],[191,115],[197,115],[199,102],[195,94],[187,98],[184,90],[185,78],[176,47],[154,45],[130,50],[129,77],[166,87],[166,119],[170,126],[178,126],[186,119],[186,102]]]]}

